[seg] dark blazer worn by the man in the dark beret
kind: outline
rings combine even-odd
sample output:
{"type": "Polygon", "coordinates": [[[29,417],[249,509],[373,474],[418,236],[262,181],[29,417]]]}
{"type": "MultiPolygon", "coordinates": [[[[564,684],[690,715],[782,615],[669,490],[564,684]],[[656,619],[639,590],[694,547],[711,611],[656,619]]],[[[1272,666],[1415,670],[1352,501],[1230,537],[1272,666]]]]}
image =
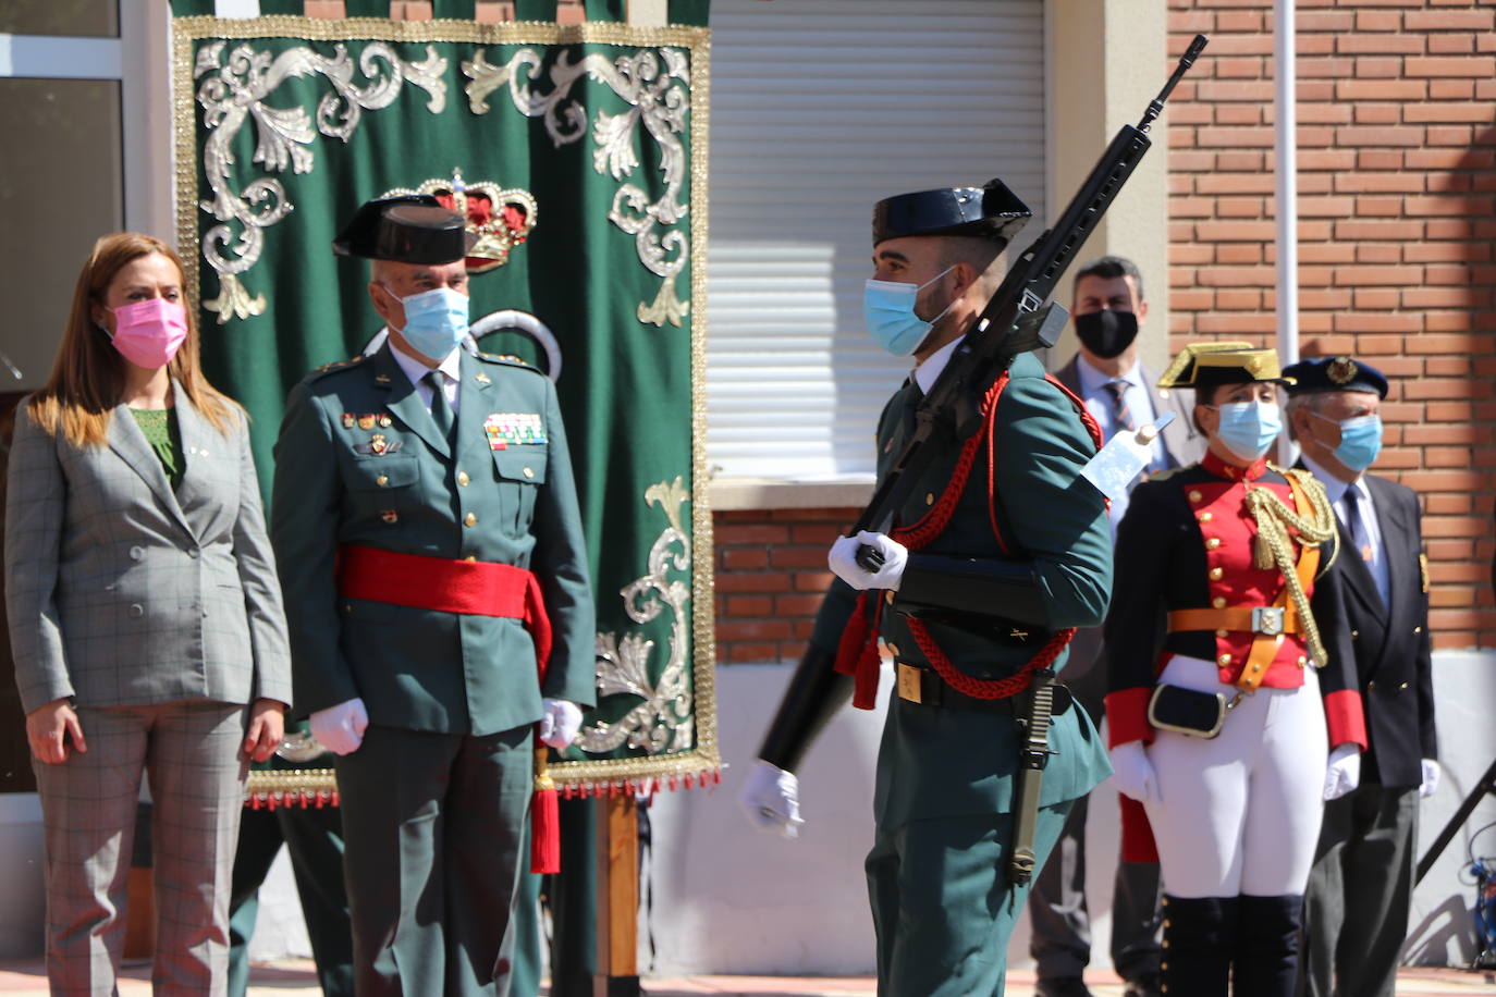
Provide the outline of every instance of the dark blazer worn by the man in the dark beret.
{"type": "Polygon", "coordinates": [[[1361,780],[1384,786],[1417,786],[1423,758],[1438,758],[1433,729],[1433,677],[1429,643],[1429,592],[1423,581],[1423,531],[1412,489],[1366,475],[1376,525],[1387,550],[1391,605],[1382,605],[1366,562],[1355,555],[1340,525],[1340,572],[1345,620],[1351,628],[1355,670],[1366,703],[1370,749],[1361,758],[1361,780]]]}

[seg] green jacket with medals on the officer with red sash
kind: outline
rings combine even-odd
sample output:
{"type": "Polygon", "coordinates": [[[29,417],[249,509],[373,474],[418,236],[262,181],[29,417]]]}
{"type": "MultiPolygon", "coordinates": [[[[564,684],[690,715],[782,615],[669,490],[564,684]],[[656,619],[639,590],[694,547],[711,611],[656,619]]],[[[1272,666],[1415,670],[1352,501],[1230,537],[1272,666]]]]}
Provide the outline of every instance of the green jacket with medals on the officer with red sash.
{"type": "Polygon", "coordinates": [[[592,595],[555,387],[464,353],[456,408],[453,453],[389,345],[292,389],[271,541],[299,710],[358,697],[371,723],[485,735],[539,720],[542,697],[594,701],[592,595]],[[519,620],[341,598],[341,544],[534,571],[554,629],[545,686],[519,620]]]}

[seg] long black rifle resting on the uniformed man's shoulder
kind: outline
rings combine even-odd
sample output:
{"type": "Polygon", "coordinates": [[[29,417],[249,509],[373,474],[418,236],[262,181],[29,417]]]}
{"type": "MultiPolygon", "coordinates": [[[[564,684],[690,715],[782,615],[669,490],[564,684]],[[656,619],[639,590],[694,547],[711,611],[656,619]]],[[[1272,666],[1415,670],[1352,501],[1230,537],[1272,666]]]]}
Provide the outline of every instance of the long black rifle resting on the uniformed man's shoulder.
{"type": "MultiPolygon", "coordinates": [[[[1195,36],[1179,58],[1174,75],[1147,105],[1147,112],[1137,127],[1122,126],[1086,182],[1080,185],[1080,191],[1065,208],[1065,214],[1059,217],[1059,223],[1019,254],[1017,262],[1002,278],[1002,285],[981,309],[972,330],[956,347],[945,369],[920,401],[914,433],[883,475],[872,501],[853,526],[854,537],[863,529],[887,532],[895,511],[904,505],[913,483],[920,480],[920,472],[935,457],[936,448],[926,444],[935,436],[939,423],[948,423],[957,439],[977,432],[981,422],[981,399],[998,375],[1017,354],[1052,347],[1059,339],[1070,312],[1064,305],[1044,302],[1122,190],[1122,184],[1147,152],[1152,145],[1147,138],[1149,126],[1162,114],[1168,94],[1194,66],[1207,40],[1204,34],[1195,36]]],[[[862,546],[857,550],[857,564],[875,572],[883,567],[883,556],[875,549],[862,546]]]]}

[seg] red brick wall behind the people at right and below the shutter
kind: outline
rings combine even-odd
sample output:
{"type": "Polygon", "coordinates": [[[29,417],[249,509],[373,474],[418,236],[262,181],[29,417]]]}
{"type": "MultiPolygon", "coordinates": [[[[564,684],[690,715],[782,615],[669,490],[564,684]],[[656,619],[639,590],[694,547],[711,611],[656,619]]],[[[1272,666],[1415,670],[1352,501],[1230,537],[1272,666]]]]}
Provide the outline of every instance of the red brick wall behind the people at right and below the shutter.
{"type": "MultiPolygon", "coordinates": [[[[1300,351],[1393,378],[1375,469],[1423,498],[1435,643],[1496,647],[1496,10],[1299,0],[1297,27],[1300,351]]],[[[1171,345],[1270,345],[1272,3],[1170,0],[1171,57],[1195,31],[1170,100],[1171,345]]],[[[721,661],[800,655],[856,513],[717,514],[721,661]]]]}

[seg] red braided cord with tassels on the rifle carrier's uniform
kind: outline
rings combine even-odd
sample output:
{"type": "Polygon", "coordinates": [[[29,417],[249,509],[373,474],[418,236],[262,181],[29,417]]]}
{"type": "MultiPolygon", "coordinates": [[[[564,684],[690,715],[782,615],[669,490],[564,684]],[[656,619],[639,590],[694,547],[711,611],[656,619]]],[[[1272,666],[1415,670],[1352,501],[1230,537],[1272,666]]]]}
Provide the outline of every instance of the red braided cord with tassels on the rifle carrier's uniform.
{"type": "MultiPolygon", "coordinates": [[[[1049,374],[1044,375],[1044,380],[1058,387],[1065,398],[1070,399],[1070,404],[1074,405],[1080,416],[1082,425],[1085,425],[1086,432],[1091,435],[1092,442],[1100,447],[1101,429],[1097,426],[1097,420],[1091,417],[1091,413],[1086,411],[1085,402],[1082,402],[1074,392],[1067,389],[1049,374]]],[[[998,529],[998,460],[995,433],[992,432],[998,413],[998,399],[1002,396],[1002,389],[1005,389],[1007,384],[1008,372],[1004,371],[1002,375],[993,381],[992,387],[987,389],[987,395],[981,401],[981,429],[962,445],[960,456],[956,460],[956,468],[950,475],[950,481],[945,484],[945,490],[931,510],[919,520],[910,523],[908,526],[890,531],[889,535],[893,540],[899,541],[910,550],[920,550],[939,537],[950,523],[950,517],[954,514],[956,505],[960,502],[962,492],[966,487],[966,480],[971,477],[971,466],[975,463],[978,451],[984,448],[987,457],[987,520],[992,525],[992,535],[998,541],[998,549],[1004,555],[1010,553],[1008,543],[1004,540],[1002,531],[998,529]]],[[[880,623],[883,617],[883,605],[884,602],[881,599],[874,602],[874,616],[869,620],[868,592],[859,595],[857,607],[853,610],[847,629],[842,632],[841,644],[836,649],[836,671],[856,677],[853,706],[860,710],[871,710],[877,703],[878,632],[881,629],[880,623]]],[[[1070,644],[1071,637],[1076,634],[1074,626],[1056,631],[1055,635],[1050,637],[1049,641],[1038,650],[1038,653],[1028,661],[1028,664],[1007,679],[975,679],[951,664],[950,658],[945,656],[945,652],[942,652],[939,644],[935,643],[935,638],[919,617],[911,616],[908,619],[908,626],[910,634],[914,637],[914,643],[917,643],[920,650],[925,652],[926,661],[931,662],[939,677],[957,692],[974,700],[1004,700],[1023,692],[1029,686],[1032,673],[1053,664],[1055,659],[1059,658],[1059,652],[1070,644]]]]}

